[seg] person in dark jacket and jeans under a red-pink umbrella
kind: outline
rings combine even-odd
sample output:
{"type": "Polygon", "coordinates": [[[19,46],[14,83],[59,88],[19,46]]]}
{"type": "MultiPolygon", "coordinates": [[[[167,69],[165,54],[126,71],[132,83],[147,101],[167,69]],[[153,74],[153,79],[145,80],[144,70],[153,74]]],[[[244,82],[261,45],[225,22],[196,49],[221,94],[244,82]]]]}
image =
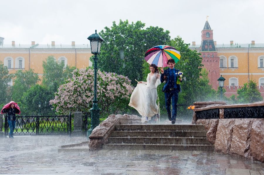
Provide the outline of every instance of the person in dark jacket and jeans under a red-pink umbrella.
{"type": "Polygon", "coordinates": [[[13,137],[13,132],[15,130],[15,124],[16,124],[16,114],[20,115],[21,111],[17,103],[14,101],[11,101],[4,105],[3,109],[1,110],[1,114],[7,113],[7,121],[9,124],[9,138],[13,137]]]}

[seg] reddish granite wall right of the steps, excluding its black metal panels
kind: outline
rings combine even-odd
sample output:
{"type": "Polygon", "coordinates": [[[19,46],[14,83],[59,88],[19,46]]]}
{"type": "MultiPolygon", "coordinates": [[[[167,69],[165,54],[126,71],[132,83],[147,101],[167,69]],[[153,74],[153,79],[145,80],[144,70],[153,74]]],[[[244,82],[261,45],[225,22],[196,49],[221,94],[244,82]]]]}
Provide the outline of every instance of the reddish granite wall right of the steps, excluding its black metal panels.
{"type": "Polygon", "coordinates": [[[207,107],[194,111],[219,108],[219,119],[196,119],[193,124],[203,124],[207,132],[207,139],[213,143],[215,150],[224,154],[246,157],[251,160],[264,162],[264,119],[263,118],[236,118],[224,119],[224,108],[259,106],[263,102],[238,105],[210,104],[207,107]]]}

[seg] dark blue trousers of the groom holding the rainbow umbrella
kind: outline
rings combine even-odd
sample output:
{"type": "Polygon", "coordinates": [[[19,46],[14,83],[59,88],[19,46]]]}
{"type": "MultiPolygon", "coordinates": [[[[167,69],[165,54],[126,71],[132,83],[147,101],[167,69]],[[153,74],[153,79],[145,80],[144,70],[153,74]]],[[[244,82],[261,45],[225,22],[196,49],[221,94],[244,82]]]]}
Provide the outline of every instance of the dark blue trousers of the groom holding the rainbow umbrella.
{"type": "Polygon", "coordinates": [[[177,116],[177,102],[178,102],[178,95],[179,91],[178,89],[173,89],[170,92],[165,92],[165,107],[168,113],[168,118],[170,120],[176,119],[177,116]],[[170,110],[170,105],[172,104],[172,115],[171,115],[171,110],[170,110]]]}

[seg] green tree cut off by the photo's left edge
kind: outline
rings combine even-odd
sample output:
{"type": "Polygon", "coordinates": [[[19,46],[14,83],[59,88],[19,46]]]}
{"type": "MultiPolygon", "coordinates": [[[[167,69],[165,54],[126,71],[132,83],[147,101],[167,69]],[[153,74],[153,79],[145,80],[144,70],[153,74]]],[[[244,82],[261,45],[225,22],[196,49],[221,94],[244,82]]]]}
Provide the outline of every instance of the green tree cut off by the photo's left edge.
{"type": "Polygon", "coordinates": [[[9,74],[8,68],[0,61],[0,104],[9,102],[10,91],[8,91],[8,82],[12,79],[12,75],[9,74]]]}

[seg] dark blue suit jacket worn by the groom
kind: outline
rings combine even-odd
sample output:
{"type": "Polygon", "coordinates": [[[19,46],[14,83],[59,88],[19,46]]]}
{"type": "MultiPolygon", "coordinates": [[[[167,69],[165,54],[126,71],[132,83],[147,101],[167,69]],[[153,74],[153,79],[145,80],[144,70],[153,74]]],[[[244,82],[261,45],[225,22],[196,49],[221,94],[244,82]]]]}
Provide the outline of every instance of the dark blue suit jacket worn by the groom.
{"type": "MultiPolygon", "coordinates": [[[[178,73],[180,71],[180,70],[175,69],[175,68],[173,68],[173,69],[168,68],[168,69],[164,70],[164,74],[161,74],[161,76],[160,76],[160,81],[162,83],[165,80],[164,76],[166,76],[166,83],[165,83],[165,85],[163,86],[163,89],[162,89],[163,92],[169,92],[170,89],[172,89],[174,87],[174,84],[176,84],[177,78],[176,78],[176,81],[175,81],[175,79],[174,79],[174,71],[172,71],[172,70],[175,70],[176,73],[178,73]]],[[[178,74],[177,74],[177,77],[178,77],[178,74]]],[[[180,84],[177,84],[177,90],[181,91],[181,85],[180,84]]]]}

